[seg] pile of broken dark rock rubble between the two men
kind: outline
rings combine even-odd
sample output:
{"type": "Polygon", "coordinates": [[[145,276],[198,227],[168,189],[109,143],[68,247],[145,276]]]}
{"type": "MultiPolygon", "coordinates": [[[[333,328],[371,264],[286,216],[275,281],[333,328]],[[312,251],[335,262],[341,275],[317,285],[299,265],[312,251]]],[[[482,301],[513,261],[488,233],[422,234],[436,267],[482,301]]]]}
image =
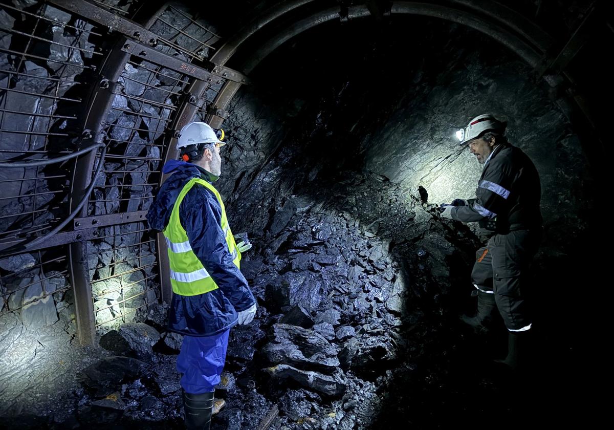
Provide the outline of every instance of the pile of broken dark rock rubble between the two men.
{"type": "Polygon", "coordinates": [[[316,185],[316,199],[288,195],[268,228],[254,229],[265,231],[254,239],[260,255],[241,267],[259,299],[258,328],[234,329],[228,355],[249,359],[246,332],[258,338],[248,369],[278,405],[279,428],[371,428],[395,373],[415,370],[426,338],[447,324],[448,266],[461,253],[444,236],[471,246],[472,235],[438,220],[418,190],[403,195],[376,174],[316,185]]]}

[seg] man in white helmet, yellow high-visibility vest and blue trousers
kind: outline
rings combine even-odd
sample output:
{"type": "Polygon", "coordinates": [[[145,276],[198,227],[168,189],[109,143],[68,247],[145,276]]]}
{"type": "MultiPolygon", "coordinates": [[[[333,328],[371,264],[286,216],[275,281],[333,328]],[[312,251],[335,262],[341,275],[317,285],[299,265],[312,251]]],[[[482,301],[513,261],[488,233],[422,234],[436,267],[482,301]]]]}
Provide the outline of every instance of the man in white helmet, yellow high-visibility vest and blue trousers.
{"type": "Polygon", "coordinates": [[[163,166],[171,176],[147,213],[150,227],[166,238],[173,287],[168,329],[184,335],[177,371],[188,429],[209,429],[230,328],[249,324],[256,313],[239,271],[241,251],[251,245],[235,243],[212,185],[222,172],[222,140],[223,131],[204,122],[185,125],[177,141],[181,159],[163,166]]]}

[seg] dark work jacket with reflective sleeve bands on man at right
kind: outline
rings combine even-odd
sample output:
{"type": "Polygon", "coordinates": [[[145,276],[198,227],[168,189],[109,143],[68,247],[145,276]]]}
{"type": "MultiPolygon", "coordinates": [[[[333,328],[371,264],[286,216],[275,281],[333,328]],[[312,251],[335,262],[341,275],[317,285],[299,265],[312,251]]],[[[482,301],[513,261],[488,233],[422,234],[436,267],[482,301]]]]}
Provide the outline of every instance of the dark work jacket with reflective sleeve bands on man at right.
{"type": "Polygon", "coordinates": [[[484,166],[475,199],[453,208],[451,215],[456,221],[480,221],[480,227],[497,233],[539,229],[541,195],[539,174],[530,158],[518,147],[500,144],[484,166]]]}

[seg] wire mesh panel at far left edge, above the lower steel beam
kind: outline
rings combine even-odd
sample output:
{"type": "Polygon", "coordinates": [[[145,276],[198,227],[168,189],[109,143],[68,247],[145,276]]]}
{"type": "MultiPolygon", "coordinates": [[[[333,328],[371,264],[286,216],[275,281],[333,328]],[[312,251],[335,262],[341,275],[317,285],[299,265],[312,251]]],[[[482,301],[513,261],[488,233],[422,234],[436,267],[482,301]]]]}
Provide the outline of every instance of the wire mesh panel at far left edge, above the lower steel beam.
{"type": "Polygon", "coordinates": [[[93,25],[43,2],[0,9],[0,241],[42,235],[68,216],[75,159],[36,165],[79,146],[85,82],[103,52],[93,25]]]}

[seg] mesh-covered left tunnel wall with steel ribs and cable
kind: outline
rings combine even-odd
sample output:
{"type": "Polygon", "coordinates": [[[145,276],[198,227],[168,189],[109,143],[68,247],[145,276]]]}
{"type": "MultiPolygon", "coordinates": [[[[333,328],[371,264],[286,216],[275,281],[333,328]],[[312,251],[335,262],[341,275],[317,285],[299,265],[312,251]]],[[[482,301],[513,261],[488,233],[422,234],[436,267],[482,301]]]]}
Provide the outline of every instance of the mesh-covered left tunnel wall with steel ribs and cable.
{"type": "Polygon", "coordinates": [[[222,74],[235,76],[207,62],[219,41],[207,23],[165,4],[139,25],[130,18],[142,6],[0,7],[0,317],[19,315],[36,329],[65,313],[65,331],[82,343],[163,299],[157,238],[144,215],[177,130],[204,120],[227,82],[222,74]],[[106,149],[102,161],[90,151],[6,168],[95,144],[106,149]]]}

